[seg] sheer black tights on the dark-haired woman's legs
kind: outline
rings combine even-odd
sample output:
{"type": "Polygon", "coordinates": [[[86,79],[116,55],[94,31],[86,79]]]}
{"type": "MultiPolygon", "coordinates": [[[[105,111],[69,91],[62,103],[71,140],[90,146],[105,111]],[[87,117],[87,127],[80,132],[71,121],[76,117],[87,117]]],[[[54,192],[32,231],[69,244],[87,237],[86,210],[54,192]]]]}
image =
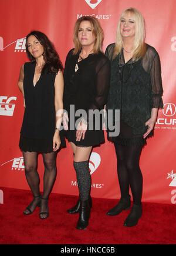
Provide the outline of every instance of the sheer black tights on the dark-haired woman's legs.
{"type": "MultiPolygon", "coordinates": [[[[45,166],[45,172],[43,177],[43,198],[48,198],[55,183],[57,169],[56,169],[56,152],[42,153],[43,164],[45,166]]],[[[25,163],[25,175],[31,188],[34,197],[40,194],[39,184],[40,178],[36,171],[38,164],[37,152],[23,152],[23,158],[25,163]]]]}

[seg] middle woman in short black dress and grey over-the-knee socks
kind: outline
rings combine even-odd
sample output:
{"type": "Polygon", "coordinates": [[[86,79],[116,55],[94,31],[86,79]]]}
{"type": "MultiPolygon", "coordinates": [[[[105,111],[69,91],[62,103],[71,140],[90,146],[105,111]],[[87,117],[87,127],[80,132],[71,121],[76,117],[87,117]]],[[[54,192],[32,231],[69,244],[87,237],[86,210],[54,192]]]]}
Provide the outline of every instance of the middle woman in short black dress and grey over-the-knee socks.
{"type": "Polygon", "coordinates": [[[103,111],[109,90],[110,61],[101,51],[103,37],[103,29],[97,19],[89,16],[77,19],[75,49],[69,51],[65,62],[63,103],[67,114],[64,114],[63,124],[75,156],[73,165],[79,188],[79,200],[68,212],[79,212],[76,228],[80,230],[87,227],[92,207],[90,152],[93,146],[104,142],[103,117],[91,114],[91,111],[103,111]],[[82,109],[82,115],[76,117],[79,109],[82,109]],[[97,129],[95,119],[100,122],[97,129]]]}

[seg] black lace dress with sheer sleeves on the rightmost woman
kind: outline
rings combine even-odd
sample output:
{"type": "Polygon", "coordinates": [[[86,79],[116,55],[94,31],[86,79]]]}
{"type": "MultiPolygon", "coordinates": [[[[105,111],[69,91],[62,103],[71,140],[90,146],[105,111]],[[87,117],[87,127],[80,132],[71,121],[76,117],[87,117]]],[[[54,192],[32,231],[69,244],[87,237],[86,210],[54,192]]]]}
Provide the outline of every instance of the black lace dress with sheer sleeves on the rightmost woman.
{"type": "MultiPolygon", "coordinates": [[[[111,61],[106,109],[120,109],[120,134],[108,138],[120,145],[144,145],[145,122],[150,119],[151,109],[163,108],[160,58],[157,51],[147,45],[144,58],[125,63],[123,49],[113,59],[114,46],[107,46],[105,53],[111,61]]],[[[152,135],[153,131],[148,137],[152,135]]]]}

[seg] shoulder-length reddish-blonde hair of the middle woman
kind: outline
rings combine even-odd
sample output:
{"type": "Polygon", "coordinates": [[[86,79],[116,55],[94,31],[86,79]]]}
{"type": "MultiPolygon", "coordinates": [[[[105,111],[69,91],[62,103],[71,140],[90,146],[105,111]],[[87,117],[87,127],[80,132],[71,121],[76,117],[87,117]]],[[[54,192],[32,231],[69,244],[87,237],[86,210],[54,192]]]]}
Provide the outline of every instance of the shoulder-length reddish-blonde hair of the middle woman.
{"type": "Polygon", "coordinates": [[[96,41],[95,41],[94,48],[93,48],[93,53],[97,54],[99,51],[102,52],[104,32],[103,32],[103,29],[101,28],[99,21],[92,16],[83,16],[83,17],[77,19],[77,21],[75,23],[75,28],[74,28],[74,32],[73,32],[73,42],[75,44],[75,49],[73,51],[73,55],[76,55],[82,49],[82,45],[80,44],[79,39],[77,37],[80,23],[82,21],[90,22],[90,24],[92,26],[93,35],[96,37],[96,41]]]}

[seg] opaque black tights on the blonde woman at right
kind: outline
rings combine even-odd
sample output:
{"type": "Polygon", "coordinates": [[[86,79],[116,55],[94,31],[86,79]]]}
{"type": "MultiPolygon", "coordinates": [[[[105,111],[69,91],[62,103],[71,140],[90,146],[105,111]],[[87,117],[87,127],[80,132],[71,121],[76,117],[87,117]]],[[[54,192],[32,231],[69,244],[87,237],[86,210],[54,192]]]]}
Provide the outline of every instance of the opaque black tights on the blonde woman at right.
{"type": "Polygon", "coordinates": [[[133,195],[133,203],[140,204],[143,192],[143,175],[139,167],[139,159],[143,146],[122,146],[114,143],[117,155],[117,173],[121,197],[128,198],[129,188],[133,195]]]}

